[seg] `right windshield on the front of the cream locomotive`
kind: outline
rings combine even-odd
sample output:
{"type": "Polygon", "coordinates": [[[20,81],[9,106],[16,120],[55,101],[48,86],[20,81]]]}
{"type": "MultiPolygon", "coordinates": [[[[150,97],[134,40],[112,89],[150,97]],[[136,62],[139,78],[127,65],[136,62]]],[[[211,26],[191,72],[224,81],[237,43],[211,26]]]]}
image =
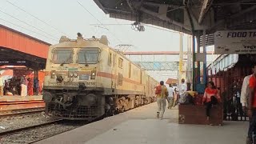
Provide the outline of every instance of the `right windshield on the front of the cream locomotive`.
{"type": "Polygon", "coordinates": [[[98,49],[81,49],[78,52],[79,64],[95,64],[98,63],[98,49]]]}

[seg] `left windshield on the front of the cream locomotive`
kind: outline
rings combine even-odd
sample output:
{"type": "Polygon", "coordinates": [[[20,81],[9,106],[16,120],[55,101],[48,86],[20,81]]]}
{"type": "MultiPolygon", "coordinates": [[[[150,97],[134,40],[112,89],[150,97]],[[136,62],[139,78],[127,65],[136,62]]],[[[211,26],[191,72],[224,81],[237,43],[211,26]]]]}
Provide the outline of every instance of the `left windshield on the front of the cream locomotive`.
{"type": "Polygon", "coordinates": [[[53,52],[54,63],[72,63],[73,62],[73,50],[72,49],[55,49],[53,52]]]}

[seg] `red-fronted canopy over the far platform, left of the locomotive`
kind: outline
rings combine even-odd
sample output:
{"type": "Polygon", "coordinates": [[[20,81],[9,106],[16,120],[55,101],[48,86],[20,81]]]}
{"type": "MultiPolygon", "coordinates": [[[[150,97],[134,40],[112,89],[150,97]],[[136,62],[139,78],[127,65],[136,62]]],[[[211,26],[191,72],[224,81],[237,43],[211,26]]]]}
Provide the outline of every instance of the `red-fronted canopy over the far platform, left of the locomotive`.
{"type": "Polygon", "coordinates": [[[50,43],[0,24],[0,66],[46,67],[50,43]]]}

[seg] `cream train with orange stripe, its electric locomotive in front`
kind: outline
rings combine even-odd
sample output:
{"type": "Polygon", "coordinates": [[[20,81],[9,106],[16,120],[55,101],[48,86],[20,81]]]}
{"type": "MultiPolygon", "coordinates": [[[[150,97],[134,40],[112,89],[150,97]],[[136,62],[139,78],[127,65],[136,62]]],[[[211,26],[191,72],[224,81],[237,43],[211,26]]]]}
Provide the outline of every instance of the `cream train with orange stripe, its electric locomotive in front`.
{"type": "Polygon", "coordinates": [[[106,36],[77,39],[62,36],[50,46],[43,99],[46,114],[71,120],[94,120],[154,102],[158,82],[106,36]]]}

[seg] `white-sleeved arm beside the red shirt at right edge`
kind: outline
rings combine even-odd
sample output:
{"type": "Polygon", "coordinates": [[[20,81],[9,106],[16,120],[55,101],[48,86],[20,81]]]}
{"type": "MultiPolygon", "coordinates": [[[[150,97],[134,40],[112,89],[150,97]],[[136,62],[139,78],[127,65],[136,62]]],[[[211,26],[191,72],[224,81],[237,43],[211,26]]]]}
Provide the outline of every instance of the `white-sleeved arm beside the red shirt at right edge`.
{"type": "Polygon", "coordinates": [[[246,107],[247,107],[247,101],[249,98],[249,93],[250,93],[250,87],[249,87],[249,79],[252,76],[252,74],[247,75],[245,78],[243,78],[242,82],[242,90],[241,90],[241,103],[242,103],[242,110],[246,112],[246,107]]]}

